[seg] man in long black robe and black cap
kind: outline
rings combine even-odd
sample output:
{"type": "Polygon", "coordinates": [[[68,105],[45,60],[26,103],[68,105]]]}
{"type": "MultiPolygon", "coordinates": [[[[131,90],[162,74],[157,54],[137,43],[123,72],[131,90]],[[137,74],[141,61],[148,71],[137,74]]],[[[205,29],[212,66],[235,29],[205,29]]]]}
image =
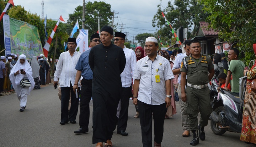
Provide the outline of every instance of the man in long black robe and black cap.
{"type": "Polygon", "coordinates": [[[121,97],[121,73],[126,65],[122,48],[111,43],[113,29],[102,27],[102,44],[93,47],[89,54],[89,65],[93,71],[92,80],[92,143],[96,147],[112,145],[110,141],[116,121],[117,105],[121,97]]]}

